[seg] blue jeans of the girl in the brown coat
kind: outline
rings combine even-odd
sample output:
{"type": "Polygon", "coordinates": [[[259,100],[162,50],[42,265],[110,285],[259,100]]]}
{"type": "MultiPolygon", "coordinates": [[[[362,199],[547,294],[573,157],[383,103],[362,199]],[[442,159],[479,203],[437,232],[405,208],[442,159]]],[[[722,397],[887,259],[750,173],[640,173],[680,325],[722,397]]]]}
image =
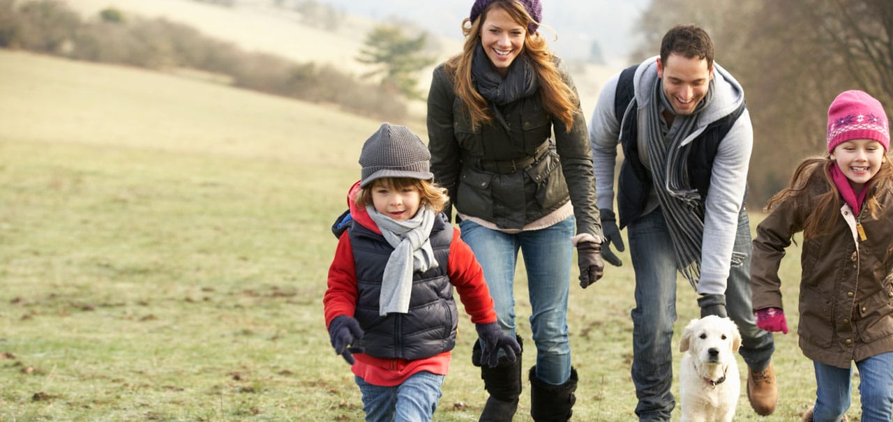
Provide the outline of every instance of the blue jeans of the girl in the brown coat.
{"type": "MultiPolygon", "coordinates": [[[[837,368],[813,361],[815,367],[815,422],[839,421],[849,409],[853,368],[837,368]]],[[[893,420],[893,352],[855,362],[859,368],[862,422],[893,420]]]]}

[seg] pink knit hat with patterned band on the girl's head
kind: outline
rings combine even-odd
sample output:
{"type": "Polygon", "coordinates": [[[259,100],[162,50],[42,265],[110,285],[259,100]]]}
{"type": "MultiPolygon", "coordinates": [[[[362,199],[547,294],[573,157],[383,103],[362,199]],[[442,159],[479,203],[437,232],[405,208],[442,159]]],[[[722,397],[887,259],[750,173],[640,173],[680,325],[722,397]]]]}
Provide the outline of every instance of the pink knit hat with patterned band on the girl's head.
{"type": "Polygon", "coordinates": [[[872,95],[863,91],[844,91],[828,108],[828,152],[853,139],[873,139],[889,150],[890,133],[887,113],[872,95]]]}

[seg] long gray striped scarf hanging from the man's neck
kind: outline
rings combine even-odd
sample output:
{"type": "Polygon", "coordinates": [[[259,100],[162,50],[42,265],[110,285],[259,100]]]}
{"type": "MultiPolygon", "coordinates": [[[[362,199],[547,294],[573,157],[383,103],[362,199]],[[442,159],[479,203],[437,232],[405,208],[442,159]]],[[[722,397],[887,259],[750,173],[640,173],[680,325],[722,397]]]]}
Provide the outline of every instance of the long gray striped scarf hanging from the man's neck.
{"type": "Polygon", "coordinates": [[[655,79],[655,97],[645,112],[645,128],[648,147],[648,164],[654,180],[657,200],[663,209],[663,218],[676,255],[676,269],[689,279],[697,290],[701,277],[701,241],[704,236],[704,202],[689,181],[688,161],[691,143],[682,145],[697,128],[697,118],[713,100],[714,81],[710,80],[707,95],[690,115],[675,114],[670,100],[663,94],[660,78],[655,79]],[[679,130],[670,139],[664,139],[659,113],[661,106],[676,115],[674,125],[679,130]]]}

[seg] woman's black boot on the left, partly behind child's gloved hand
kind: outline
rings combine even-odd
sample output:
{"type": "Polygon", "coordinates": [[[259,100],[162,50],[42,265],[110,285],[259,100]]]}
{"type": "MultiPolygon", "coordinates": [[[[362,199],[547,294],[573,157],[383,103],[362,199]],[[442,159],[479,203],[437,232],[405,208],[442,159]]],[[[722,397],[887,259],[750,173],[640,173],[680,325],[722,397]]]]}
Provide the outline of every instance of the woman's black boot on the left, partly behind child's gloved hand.
{"type": "MultiPolygon", "coordinates": [[[[521,337],[516,337],[522,344],[521,337]]],[[[523,344],[522,344],[523,352],[523,344]]],[[[521,395],[521,355],[512,361],[499,358],[496,368],[480,363],[480,342],[474,342],[472,363],[480,367],[480,378],[484,380],[484,388],[490,393],[484,410],[480,412],[480,422],[511,422],[515,410],[518,409],[518,396],[521,395]]]]}

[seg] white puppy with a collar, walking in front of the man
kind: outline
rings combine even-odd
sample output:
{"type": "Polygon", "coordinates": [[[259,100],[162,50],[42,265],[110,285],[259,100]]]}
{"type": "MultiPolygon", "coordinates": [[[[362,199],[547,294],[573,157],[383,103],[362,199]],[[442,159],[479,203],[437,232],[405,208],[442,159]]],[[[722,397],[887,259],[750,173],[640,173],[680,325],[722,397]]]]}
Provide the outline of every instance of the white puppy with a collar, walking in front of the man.
{"type": "Polygon", "coordinates": [[[714,315],[692,319],[679,343],[680,422],[728,422],[735,416],[741,380],[735,353],[741,346],[738,326],[714,315]]]}

